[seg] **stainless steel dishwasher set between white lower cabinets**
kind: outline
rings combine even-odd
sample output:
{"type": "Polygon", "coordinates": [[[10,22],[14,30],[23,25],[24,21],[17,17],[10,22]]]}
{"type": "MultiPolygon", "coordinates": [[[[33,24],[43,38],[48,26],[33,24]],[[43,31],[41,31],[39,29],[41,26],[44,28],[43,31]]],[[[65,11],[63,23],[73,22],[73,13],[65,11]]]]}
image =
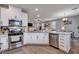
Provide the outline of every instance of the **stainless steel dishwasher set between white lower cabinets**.
{"type": "Polygon", "coordinates": [[[59,46],[59,35],[56,33],[49,33],[49,45],[58,48],[59,46]]]}

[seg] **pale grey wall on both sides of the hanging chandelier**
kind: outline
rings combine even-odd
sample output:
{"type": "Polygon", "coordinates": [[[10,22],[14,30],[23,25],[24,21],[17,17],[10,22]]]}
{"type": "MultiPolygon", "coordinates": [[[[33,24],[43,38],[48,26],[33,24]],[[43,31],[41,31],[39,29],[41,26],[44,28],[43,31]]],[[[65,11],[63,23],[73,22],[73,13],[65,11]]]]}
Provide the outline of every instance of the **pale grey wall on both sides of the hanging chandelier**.
{"type": "MultiPolygon", "coordinates": [[[[68,20],[71,20],[72,24],[66,25],[66,31],[73,31],[75,37],[79,37],[79,29],[77,29],[79,26],[79,15],[68,17],[68,20]]],[[[62,19],[58,19],[57,21],[57,28],[60,30],[62,19]]]]}

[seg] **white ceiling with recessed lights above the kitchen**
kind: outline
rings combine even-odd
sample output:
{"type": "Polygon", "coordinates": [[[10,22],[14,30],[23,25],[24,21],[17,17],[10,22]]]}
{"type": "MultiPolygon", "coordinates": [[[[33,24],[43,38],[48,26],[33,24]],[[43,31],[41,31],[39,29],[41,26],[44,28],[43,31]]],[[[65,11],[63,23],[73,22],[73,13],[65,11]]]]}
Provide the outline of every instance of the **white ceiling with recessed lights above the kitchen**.
{"type": "Polygon", "coordinates": [[[38,12],[42,21],[79,15],[79,4],[13,4],[13,6],[25,9],[30,20],[35,19],[35,8],[39,9],[38,12]]]}

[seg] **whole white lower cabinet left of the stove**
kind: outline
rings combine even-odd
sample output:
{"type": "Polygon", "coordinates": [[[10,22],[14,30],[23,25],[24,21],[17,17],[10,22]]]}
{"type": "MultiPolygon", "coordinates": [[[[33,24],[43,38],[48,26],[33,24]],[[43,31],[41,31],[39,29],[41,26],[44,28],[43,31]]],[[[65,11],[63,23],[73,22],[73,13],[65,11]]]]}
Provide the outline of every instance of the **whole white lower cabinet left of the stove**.
{"type": "Polygon", "coordinates": [[[8,35],[0,35],[1,51],[8,50],[8,35]]]}

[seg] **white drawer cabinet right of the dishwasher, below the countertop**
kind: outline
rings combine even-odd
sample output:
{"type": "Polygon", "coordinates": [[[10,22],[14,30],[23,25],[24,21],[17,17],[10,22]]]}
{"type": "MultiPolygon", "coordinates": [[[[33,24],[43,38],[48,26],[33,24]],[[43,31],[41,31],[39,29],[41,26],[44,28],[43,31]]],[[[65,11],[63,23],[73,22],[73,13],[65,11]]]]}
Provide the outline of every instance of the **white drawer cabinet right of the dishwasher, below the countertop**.
{"type": "Polygon", "coordinates": [[[65,52],[69,52],[71,48],[71,35],[59,34],[59,48],[65,52]]]}

